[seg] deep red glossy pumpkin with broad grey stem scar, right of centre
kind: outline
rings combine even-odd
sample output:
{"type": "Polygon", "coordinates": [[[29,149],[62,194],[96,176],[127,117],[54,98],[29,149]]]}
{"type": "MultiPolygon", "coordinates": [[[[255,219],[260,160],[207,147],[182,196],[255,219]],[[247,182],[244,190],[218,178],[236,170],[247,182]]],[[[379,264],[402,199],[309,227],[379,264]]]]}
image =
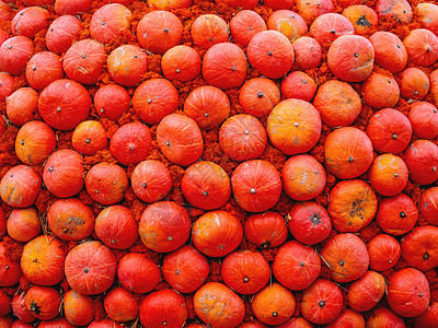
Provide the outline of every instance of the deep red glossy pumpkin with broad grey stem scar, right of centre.
{"type": "Polygon", "coordinates": [[[332,232],[327,211],[316,202],[295,204],[286,219],[293,238],[306,245],[321,243],[332,232]]]}

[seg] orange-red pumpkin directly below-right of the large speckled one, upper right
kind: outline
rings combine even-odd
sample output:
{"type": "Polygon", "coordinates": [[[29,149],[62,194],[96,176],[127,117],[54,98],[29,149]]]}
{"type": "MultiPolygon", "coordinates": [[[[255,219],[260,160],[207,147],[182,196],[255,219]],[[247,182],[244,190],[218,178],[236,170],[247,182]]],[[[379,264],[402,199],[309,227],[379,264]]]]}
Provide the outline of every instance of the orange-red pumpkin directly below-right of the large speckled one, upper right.
{"type": "Polygon", "coordinates": [[[372,72],[361,84],[362,97],[373,109],[392,108],[399,102],[400,87],[395,79],[372,72]]]}

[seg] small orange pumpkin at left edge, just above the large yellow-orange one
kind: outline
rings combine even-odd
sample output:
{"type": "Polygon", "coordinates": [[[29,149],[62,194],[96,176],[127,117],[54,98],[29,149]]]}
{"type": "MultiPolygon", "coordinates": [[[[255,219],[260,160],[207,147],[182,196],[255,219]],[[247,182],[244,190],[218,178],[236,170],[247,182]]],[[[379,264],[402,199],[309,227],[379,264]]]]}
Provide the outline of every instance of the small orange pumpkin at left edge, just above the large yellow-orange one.
{"type": "MultiPolygon", "coordinates": [[[[2,215],[4,215],[4,213],[2,215]]],[[[41,232],[42,224],[39,222],[39,214],[35,208],[13,209],[9,215],[8,222],[5,222],[5,229],[11,238],[16,242],[27,243],[35,238],[41,232]]],[[[1,232],[0,235],[2,235],[1,232]]]]}

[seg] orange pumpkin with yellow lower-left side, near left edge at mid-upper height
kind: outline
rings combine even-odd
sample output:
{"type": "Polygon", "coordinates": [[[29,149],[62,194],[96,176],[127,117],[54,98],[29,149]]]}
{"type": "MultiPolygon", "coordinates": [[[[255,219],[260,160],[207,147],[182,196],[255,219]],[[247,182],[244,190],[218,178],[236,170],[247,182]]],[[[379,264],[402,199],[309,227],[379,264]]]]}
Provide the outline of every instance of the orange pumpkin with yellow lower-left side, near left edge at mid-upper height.
{"type": "Polygon", "coordinates": [[[55,148],[55,131],[41,120],[26,122],[15,138],[15,154],[26,165],[43,164],[55,148]]]}

